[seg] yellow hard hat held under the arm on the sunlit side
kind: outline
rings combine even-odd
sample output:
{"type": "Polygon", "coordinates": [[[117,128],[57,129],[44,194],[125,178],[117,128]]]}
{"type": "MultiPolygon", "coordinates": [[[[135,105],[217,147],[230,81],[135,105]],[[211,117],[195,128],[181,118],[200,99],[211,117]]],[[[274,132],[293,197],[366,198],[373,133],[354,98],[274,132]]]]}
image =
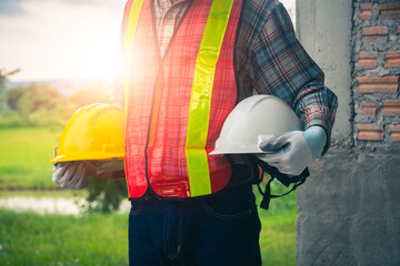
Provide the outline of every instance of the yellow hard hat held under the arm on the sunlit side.
{"type": "Polygon", "coordinates": [[[111,160],[124,156],[124,112],[104,103],[79,109],[61,134],[50,163],[111,160]]]}

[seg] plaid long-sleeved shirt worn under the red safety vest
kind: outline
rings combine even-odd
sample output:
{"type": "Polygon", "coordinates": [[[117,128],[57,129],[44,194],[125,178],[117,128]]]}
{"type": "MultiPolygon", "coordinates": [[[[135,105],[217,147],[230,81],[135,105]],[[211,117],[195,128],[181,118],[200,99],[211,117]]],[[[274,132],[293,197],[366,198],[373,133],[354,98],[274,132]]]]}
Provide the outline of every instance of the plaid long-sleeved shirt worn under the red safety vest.
{"type": "MultiPolygon", "coordinates": [[[[161,54],[191,1],[196,0],[154,0],[161,54]]],[[[320,125],[326,130],[327,152],[338,100],[323,85],[323,72],[297,40],[290,17],[278,0],[248,0],[243,4],[234,51],[238,100],[254,92],[279,96],[292,106],[306,129],[320,125]]],[[[116,103],[123,106],[122,85],[116,86],[114,95],[116,103]]]]}

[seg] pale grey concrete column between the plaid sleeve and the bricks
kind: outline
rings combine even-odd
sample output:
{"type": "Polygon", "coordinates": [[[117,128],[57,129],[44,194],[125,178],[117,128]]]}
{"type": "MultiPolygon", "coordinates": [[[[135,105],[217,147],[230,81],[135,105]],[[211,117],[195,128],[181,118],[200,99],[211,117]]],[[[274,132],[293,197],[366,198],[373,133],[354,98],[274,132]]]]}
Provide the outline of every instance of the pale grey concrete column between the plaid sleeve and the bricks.
{"type": "Polygon", "coordinates": [[[326,85],[338,95],[332,136],[351,144],[351,0],[297,0],[297,34],[326,73],[326,85]]]}

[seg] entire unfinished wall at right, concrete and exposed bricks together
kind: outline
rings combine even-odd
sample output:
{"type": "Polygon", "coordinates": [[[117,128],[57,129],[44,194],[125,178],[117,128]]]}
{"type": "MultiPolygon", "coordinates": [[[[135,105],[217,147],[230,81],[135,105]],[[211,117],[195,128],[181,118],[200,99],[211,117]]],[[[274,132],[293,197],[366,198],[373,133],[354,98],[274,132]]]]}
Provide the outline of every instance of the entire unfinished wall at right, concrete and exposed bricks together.
{"type": "Polygon", "coordinates": [[[339,98],[299,187],[297,263],[400,265],[400,1],[297,0],[297,33],[339,98]]]}

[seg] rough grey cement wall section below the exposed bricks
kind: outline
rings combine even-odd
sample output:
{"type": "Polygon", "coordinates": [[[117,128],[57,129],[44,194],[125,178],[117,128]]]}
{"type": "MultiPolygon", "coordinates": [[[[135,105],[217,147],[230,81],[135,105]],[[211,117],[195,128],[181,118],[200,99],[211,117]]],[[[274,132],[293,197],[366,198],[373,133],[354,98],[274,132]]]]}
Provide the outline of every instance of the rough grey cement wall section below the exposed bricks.
{"type": "Polygon", "coordinates": [[[298,266],[400,265],[400,155],[332,149],[299,187],[298,266]]]}

